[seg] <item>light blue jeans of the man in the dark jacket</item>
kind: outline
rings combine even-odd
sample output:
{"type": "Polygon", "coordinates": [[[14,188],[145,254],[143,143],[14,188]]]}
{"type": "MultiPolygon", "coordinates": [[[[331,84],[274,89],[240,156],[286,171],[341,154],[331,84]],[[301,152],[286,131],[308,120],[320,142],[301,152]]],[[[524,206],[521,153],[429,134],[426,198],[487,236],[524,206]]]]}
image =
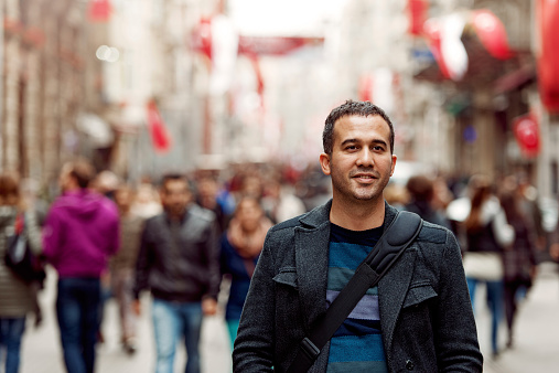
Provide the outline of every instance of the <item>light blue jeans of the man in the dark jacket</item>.
{"type": "Polygon", "coordinates": [[[200,334],[202,330],[201,302],[173,302],[153,299],[153,329],[155,334],[155,373],[172,373],[176,343],[184,338],[186,347],[185,373],[200,373],[200,334]]]}

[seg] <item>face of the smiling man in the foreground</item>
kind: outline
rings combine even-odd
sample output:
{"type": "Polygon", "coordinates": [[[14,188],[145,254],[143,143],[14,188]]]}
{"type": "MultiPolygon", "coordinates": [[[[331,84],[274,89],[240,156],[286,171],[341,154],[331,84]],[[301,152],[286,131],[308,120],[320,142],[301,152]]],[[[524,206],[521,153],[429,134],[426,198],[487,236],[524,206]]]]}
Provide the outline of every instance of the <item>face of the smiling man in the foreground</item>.
{"type": "Polygon", "coordinates": [[[332,178],[334,198],[342,201],[383,199],[396,164],[390,128],[380,116],[344,116],[334,125],[332,154],[320,156],[332,178]]]}

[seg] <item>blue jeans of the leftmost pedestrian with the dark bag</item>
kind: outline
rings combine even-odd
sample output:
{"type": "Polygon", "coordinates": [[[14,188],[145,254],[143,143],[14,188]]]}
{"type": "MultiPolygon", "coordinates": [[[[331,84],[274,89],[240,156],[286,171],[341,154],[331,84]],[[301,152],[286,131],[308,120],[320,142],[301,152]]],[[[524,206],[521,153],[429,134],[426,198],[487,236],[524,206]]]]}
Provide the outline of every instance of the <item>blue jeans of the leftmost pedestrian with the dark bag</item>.
{"type": "Polygon", "coordinates": [[[25,317],[0,318],[0,358],[6,348],[6,373],[20,369],[21,337],[25,330],[25,317]]]}

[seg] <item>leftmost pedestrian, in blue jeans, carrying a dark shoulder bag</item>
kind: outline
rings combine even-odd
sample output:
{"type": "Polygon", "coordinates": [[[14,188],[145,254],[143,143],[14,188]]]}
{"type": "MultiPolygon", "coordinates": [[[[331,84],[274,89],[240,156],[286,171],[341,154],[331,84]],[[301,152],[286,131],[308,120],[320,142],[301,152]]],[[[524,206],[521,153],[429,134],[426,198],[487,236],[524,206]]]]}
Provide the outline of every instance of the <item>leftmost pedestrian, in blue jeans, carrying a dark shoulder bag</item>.
{"type": "Polygon", "coordinates": [[[2,173],[0,174],[0,366],[4,366],[6,373],[19,372],[26,316],[34,313],[35,323],[41,322],[36,298],[37,284],[17,276],[3,259],[10,237],[14,233],[26,237],[32,252],[37,255],[41,253],[41,231],[36,215],[23,203],[18,179],[9,173],[2,173]]]}

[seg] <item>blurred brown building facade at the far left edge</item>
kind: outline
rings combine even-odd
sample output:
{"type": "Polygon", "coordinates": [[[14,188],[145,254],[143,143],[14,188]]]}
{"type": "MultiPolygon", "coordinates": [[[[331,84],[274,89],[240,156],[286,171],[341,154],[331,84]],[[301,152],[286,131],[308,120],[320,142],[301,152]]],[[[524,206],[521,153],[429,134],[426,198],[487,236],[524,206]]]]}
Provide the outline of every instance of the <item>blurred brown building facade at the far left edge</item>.
{"type": "Polygon", "coordinates": [[[76,153],[86,95],[84,2],[0,6],[0,168],[46,181],[76,153]]]}

